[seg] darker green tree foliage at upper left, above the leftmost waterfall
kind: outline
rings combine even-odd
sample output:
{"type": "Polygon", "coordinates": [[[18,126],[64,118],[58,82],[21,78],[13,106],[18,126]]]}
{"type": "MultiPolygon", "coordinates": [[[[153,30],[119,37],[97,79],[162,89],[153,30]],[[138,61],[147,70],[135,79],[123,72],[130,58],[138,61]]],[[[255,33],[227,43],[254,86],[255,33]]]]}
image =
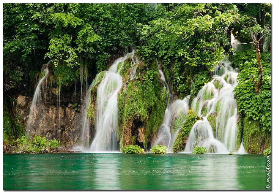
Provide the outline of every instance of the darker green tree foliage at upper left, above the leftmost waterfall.
{"type": "Polygon", "coordinates": [[[111,56],[135,45],[136,23],[155,17],[149,4],[6,3],[3,8],[6,89],[21,85],[24,66],[35,78],[44,58],[52,59],[58,86],[79,80],[83,60],[104,70],[111,56]]]}

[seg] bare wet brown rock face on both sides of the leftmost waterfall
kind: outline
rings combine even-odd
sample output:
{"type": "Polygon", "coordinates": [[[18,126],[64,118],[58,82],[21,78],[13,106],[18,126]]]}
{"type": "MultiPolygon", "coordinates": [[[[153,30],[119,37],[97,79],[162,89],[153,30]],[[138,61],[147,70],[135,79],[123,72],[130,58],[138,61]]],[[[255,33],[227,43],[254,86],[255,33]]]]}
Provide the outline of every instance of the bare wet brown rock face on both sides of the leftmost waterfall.
{"type": "MultiPolygon", "coordinates": [[[[25,127],[31,103],[31,97],[19,94],[16,98],[16,105],[13,107],[18,123],[25,127]]],[[[78,106],[78,109],[81,107],[78,106]]],[[[34,110],[30,135],[45,136],[49,133],[49,139],[58,139],[60,145],[78,145],[82,132],[81,120],[81,110],[75,111],[71,103],[61,105],[60,108],[58,105],[42,104],[39,109],[36,107],[34,110]]]]}

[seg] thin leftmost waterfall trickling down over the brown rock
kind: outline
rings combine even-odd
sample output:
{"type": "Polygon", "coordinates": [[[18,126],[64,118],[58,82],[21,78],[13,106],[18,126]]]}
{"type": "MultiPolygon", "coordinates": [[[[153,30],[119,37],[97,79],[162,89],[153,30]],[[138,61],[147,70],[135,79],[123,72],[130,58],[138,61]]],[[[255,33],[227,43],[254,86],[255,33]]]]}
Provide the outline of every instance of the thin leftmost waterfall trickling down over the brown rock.
{"type": "MultiPolygon", "coordinates": [[[[27,125],[26,125],[26,136],[32,135],[32,130],[35,128],[32,128],[32,123],[35,119],[35,115],[37,115],[38,111],[41,110],[41,100],[42,100],[42,96],[41,96],[41,90],[42,90],[42,83],[44,82],[44,79],[47,77],[48,75],[48,64],[51,62],[48,61],[47,64],[44,64],[42,66],[41,69],[41,73],[40,73],[40,80],[36,86],[35,92],[34,92],[34,96],[32,99],[32,105],[30,107],[29,110],[29,116],[28,116],[28,121],[27,121],[27,125]]],[[[46,93],[45,93],[46,95],[46,93]]],[[[46,98],[46,96],[45,96],[46,98]]]]}

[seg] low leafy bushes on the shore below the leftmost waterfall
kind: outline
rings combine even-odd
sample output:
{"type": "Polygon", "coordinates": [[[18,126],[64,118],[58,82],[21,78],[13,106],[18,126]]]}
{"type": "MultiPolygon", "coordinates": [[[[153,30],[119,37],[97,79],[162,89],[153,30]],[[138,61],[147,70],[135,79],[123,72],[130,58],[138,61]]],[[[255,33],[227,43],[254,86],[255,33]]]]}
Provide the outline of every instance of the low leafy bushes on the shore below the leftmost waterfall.
{"type": "Polygon", "coordinates": [[[57,148],[59,141],[56,139],[48,140],[46,137],[35,135],[32,140],[24,136],[16,140],[15,151],[22,151],[23,153],[38,154],[45,153],[49,149],[57,148]]]}

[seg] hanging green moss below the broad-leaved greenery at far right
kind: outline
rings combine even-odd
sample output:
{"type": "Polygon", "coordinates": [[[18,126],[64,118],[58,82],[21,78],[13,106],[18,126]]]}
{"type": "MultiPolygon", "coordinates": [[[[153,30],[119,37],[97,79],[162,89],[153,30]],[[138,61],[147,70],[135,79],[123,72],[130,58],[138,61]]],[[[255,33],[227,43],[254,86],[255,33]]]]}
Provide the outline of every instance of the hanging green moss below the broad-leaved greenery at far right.
{"type": "Polygon", "coordinates": [[[243,119],[243,146],[250,154],[260,153],[260,141],[262,140],[259,122],[245,117],[243,119]]]}

